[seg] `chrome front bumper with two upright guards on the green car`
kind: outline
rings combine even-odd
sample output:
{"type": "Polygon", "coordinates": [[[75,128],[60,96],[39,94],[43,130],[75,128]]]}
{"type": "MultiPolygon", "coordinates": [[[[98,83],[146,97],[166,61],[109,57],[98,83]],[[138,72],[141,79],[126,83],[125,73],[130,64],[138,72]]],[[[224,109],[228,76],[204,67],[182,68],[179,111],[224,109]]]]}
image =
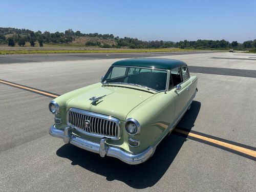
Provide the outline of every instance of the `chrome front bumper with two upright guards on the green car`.
{"type": "Polygon", "coordinates": [[[128,164],[139,164],[145,162],[154,153],[154,148],[148,147],[144,152],[140,154],[132,154],[122,150],[121,148],[108,145],[104,138],[100,140],[100,143],[88,141],[72,135],[71,127],[65,127],[64,131],[62,131],[58,130],[54,125],[52,125],[50,127],[49,133],[53,137],[63,139],[65,143],[71,143],[75,146],[83,148],[84,150],[98,153],[101,157],[104,157],[105,155],[115,157],[128,164]]]}

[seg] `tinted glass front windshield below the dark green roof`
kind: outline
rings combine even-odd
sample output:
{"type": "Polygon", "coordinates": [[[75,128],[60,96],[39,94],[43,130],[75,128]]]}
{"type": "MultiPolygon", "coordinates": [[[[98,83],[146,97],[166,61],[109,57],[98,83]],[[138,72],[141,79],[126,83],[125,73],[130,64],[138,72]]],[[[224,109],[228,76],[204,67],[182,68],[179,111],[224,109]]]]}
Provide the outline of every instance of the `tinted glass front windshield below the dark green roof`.
{"type": "Polygon", "coordinates": [[[103,84],[121,83],[146,87],[155,91],[166,89],[167,71],[136,67],[111,67],[102,79],[103,84]]]}

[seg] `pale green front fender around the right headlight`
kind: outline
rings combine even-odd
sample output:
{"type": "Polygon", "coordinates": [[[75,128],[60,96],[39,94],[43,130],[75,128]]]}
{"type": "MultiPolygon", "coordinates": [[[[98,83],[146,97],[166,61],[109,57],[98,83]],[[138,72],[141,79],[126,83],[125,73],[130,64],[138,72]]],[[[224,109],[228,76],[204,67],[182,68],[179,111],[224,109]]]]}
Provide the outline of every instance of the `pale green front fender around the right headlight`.
{"type": "Polygon", "coordinates": [[[130,135],[127,138],[140,141],[139,147],[131,147],[134,153],[154,146],[167,131],[167,127],[173,123],[175,113],[175,99],[172,92],[161,92],[136,106],[127,116],[134,118],[140,123],[140,133],[130,135]]]}

